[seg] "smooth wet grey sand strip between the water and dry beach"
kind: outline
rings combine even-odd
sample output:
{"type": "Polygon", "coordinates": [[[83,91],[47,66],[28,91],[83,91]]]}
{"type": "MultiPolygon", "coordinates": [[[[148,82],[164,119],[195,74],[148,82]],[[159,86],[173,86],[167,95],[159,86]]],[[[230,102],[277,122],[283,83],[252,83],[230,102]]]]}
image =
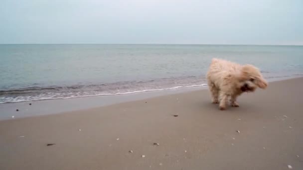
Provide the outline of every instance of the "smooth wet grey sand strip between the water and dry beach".
{"type": "MultiPolygon", "coordinates": [[[[268,80],[268,82],[272,83],[272,82],[280,82],[280,81],[287,81],[287,80],[300,79],[300,78],[303,77],[293,76],[293,77],[274,78],[268,80]]],[[[0,121],[9,120],[9,119],[18,119],[24,117],[32,117],[32,116],[43,116],[49,114],[60,114],[64,112],[85,110],[95,107],[103,107],[103,106],[119,104],[129,101],[144,100],[144,99],[149,99],[163,95],[198,91],[203,89],[208,89],[207,85],[176,88],[176,89],[145,91],[145,92],[138,92],[131,94],[99,95],[99,96],[75,97],[75,98],[67,98],[67,99],[45,99],[45,100],[1,103],[0,121]],[[29,103],[31,103],[32,105],[29,105],[29,103]],[[16,111],[16,109],[18,109],[19,111],[16,111]]]]}

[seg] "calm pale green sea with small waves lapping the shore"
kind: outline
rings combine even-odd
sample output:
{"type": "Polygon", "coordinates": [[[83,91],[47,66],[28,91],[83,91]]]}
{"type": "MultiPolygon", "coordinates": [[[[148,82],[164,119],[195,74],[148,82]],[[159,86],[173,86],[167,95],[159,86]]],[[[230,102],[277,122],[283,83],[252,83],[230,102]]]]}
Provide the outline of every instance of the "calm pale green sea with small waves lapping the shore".
{"type": "Polygon", "coordinates": [[[0,45],[0,103],[201,86],[213,57],[303,76],[303,46],[0,45]]]}

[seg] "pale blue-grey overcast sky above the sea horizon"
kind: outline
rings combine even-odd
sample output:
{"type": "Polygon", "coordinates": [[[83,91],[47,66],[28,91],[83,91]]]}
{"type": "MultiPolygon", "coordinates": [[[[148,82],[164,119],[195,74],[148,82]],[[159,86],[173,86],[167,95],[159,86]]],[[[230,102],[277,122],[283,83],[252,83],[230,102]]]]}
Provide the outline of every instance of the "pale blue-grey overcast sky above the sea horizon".
{"type": "Polygon", "coordinates": [[[303,0],[1,0],[0,43],[303,45],[303,0]]]}

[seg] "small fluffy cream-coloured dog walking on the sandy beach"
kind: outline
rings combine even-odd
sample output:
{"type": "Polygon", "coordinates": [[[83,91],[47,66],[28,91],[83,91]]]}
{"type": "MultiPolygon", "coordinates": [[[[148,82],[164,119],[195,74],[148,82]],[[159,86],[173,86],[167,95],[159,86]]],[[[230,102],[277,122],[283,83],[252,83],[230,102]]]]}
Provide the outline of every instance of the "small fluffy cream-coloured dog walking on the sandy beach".
{"type": "Polygon", "coordinates": [[[206,77],[212,102],[220,103],[220,110],[226,109],[229,97],[231,106],[239,107],[236,102],[239,95],[253,92],[257,87],[265,89],[268,85],[255,66],[215,58],[211,61],[206,77]]]}

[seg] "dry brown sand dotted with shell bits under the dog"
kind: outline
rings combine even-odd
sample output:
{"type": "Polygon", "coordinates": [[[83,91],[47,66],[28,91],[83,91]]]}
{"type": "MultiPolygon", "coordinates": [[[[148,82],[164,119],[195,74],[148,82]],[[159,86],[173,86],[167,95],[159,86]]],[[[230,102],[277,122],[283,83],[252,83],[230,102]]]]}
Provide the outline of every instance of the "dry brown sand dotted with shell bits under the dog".
{"type": "Polygon", "coordinates": [[[0,121],[0,170],[303,170],[302,85],[225,111],[199,90],[0,121]]]}

